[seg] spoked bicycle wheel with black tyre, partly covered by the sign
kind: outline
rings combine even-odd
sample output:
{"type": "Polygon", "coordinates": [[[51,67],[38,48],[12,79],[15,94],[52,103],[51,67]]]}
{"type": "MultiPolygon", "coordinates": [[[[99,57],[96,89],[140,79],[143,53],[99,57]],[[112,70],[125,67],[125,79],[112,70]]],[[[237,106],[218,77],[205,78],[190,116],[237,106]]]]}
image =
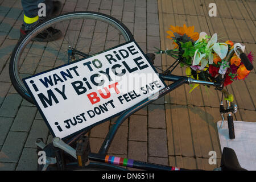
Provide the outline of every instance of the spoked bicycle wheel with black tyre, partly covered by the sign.
{"type": "MultiPolygon", "coordinates": [[[[34,28],[14,48],[9,73],[17,92],[34,104],[22,82],[22,78],[46,71],[71,61],[68,49],[76,49],[84,55],[129,42],[133,35],[119,20],[102,13],[77,11],[59,15],[34,28]],[[35,37],[53,27],[62,32],[60,39],[52,42],[37,42],[35,37]]],[[[72,61],[85,57],[72,56],[72,61]]]]}

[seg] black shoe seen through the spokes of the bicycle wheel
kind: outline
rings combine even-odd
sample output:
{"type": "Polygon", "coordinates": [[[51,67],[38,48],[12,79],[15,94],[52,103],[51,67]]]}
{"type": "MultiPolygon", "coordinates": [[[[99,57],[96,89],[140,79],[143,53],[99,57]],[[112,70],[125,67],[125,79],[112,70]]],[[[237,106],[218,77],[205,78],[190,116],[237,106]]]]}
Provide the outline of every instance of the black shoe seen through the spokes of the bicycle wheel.
{"type": "MultiPolygon", "coordinates": [[[[20,39],[23,39],[31,30],[25,30],[24,25],[20,28],[20,39]]],[[[32,40],[38,42],[51,42],[61,38],[62,33],[60,30],[49,27],[43,32],[40,32],[32,40]]]]}

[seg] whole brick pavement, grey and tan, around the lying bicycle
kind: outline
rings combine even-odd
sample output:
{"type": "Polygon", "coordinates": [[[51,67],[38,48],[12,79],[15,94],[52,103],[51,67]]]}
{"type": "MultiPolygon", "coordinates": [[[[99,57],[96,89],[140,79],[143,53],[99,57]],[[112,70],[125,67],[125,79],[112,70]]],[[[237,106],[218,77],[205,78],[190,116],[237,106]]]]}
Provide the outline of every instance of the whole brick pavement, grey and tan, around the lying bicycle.
{"type": "MultiPolygon", "coordinates": [[[[121,20],[133,33],[144,52],[154,47],[171,48],[166,30],[170,24],[195,26],[195,31],[209,35],[222,33],[255,50],[254,1],[213,1],[217,17],[208,16],[208,4],[200,0],[62,0],[63,13],[69,11],[99,11],[121,20]],[[218,25],[218,26],[216,26],[218,25]]],[[[35,170],[35,139],[50,142],[52,137],[36,107],[16,93],[9,78],[9,58],[19,38],[22,24],[19,0],[0,0],[0,170],[35,170]]],[[[109,45],[111,47],[111,45],[109,45]]],[[[27,59],[29,61],[29,59],[27,59]]],[[[166,55],[156,55],[155,66],[166,68],[172,63],[166,55]]],[[[255,65],[255,61],[254,61],[255,65]]],[[[39,65],[36,72],[48,69],[39,65]]],[[[55,67],[57,65],[54,65],[55,67]]],[[[184,75],[184,68],[175,70],[184,75]]],[[[229,86],[240,110],[237,120],[256,121],[255,68],[245,81],[229,86]]],[[[208,164],[208,152],[217,152],[220,164],[220,144],[216,122],[220,120],[220,94],[210,89],[210,95],[200,89],[188,94],[184,85],[155,101],[128,118],[119,128],[109,155],[137,159],[191,169],[213,169],[208,164]]],[[[97,152],[116,118],[94,127],[89,133],[90,145],[97,152]]]]}

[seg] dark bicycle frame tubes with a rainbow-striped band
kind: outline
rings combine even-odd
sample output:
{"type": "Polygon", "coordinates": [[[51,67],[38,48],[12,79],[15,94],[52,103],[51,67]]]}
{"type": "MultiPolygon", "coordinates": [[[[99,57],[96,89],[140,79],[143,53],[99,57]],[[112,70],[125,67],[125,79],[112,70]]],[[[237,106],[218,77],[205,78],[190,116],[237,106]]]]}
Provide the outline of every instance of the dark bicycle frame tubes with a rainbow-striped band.
{"type": "MultiPolygon", "coordinates": [[[[106,166],[110,167],[110,166],[113,166],[113,164],[114,164],[114,165],[119,165],[119,166],[126,166],[126,167],[146,169],[146,170],[171,170],[171,171],[186,170],[183,168],[163,166],[163,165],[159,165],[159,164],[146,163],[146,162],[141,162],[138,160],[118,158],[115,156],[106,155],[106,153],[108,152],[108,149],[110,147],[110,144],[112,143],[112,140],[113,140],[115,134],[117,133],[117,130],[119,129],[119,126],[121,126],[122,123],[125,121],[125,119],[129,118],[131,114],[142,109],[143,107],[147,106],[148,104],[151,104],[156,99],[163,97],[164,95],[170,93],[172,90],[178,88],[179,86],[181,86],[185,83],[187,83],[187,84],[197,83],[197,84],[203,84],[203,85],[219,86],[215,82],[194,80],[190,77],[184,77],[184,76],[159,74],[159,77],[163,78],[163,80],[174,81],[174,82],[172,84],[166,86],[165,88],[159,90],[158,93],[144,99],[143,101],[139,102],[138,104],[134,105],[133,107],[130,107],[130,109],[123,111],[123,113],[121,115],[119,115],[117,121],[115,121],[114,125],[112,125],[112,127],[110,128],[109,133],[106,135],[106,138],[105,138],[104,142],[102,143],[98,154],[94,154],[94,153],[89,154],[88,158],[90,160],[94,160],[96,162],[101,162],[98,165],[101,165],[101,166],[103,165],[105,167],[106,166]],[[105,164],[102,164],[102,162],[105,164]]],[[[89,130],[86,130],[86,131],[80,133],[79,135],[76,135],[73,138],[67,139],[65,141],[65,143],[70,145],[70,144],[76,142],[76,140],[79,139],[79,137],[81,135],[86,134],[89,130]]],[[[75,150],[72,150],[73,156],[75,155],[74,153],[75,153],[75,150]]],[[[97,163],[93,163],[93,164],[97,165],[97,163]]],[[[68,166],[73,166],[73,165],[77,166],[77,163],[69,163],[67,165],[68,166]]],[[[113,167],[113,169],[123,169],[123,168],[115,166],[115,167],[113,167]]]]}

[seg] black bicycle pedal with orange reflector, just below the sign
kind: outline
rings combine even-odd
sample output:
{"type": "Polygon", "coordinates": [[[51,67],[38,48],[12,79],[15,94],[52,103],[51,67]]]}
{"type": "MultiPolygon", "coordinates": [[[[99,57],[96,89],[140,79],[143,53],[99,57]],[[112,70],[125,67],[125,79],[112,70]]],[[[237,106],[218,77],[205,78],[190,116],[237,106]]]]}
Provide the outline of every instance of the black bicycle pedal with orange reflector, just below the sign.
{"type": "Polygon", "coordinates": [[[88,155],[90,153],[89,138],[81,136],[76,145],[76,156],[78,166],[84,168],[89,165],[88,155]]]}

